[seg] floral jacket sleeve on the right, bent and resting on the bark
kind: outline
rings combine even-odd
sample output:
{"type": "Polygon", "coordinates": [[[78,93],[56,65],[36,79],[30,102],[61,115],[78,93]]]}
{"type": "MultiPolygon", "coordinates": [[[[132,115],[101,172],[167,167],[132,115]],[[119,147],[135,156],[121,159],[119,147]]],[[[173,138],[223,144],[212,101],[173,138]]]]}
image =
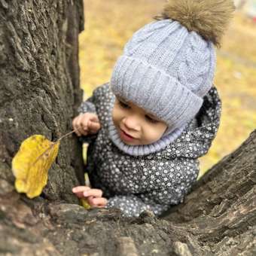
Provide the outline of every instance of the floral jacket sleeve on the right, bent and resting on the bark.
{"type": "Polygon", "coordinates": [[[143,194],[115,196],[108,200],[107,207],[119,208],[126,216],[139,216],[146,209],[161,215],[172,205],[183,203],[184,196],[197,181],[199,161],[190,158],[176,158],[168,162],[162,172],[154,172],[148,178],[148,186],[154,187],[143,194]]]}

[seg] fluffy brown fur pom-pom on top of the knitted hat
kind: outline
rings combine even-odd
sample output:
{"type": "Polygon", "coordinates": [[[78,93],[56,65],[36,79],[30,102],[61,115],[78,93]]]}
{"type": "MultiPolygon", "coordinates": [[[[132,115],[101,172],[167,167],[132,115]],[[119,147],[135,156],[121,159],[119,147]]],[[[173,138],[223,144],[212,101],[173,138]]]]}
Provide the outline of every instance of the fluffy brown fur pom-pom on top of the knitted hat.
{"type": "Polygon", "coordinates": [[[188,31],[200,34],[205,40],[220,46],[221,37],[232,17],[232,0],[168,0],[156,20],[177,20],[188,31]]]}

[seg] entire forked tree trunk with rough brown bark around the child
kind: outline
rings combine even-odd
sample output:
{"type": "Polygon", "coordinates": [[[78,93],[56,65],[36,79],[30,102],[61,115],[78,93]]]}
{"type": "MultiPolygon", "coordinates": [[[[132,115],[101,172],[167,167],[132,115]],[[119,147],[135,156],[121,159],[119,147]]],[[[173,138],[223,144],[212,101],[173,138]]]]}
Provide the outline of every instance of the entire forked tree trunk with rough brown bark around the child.
{"type": "Polygon", "coordinates": [[[72,130],[83,23],[82,0],[0,0],[0,254],[255,255],[256,130],[163,218],[79,206],[71,192],[83,182],[75,136],[62,140],[40,197],[14,190],[20,143],[72,130]]]}

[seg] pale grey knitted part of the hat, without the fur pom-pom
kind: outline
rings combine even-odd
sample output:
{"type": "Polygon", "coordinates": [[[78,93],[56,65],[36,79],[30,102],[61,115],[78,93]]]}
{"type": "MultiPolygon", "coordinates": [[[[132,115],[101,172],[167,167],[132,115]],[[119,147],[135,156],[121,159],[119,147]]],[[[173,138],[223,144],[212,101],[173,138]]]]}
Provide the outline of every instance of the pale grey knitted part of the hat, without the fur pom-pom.
{"type": "Polygon", "coordinates": [[[214,71],[212,42],[178,21],[154,21],[126,43],[114,65],[111,89],[165,121],[166,136],[200,110],[214,71]]]}

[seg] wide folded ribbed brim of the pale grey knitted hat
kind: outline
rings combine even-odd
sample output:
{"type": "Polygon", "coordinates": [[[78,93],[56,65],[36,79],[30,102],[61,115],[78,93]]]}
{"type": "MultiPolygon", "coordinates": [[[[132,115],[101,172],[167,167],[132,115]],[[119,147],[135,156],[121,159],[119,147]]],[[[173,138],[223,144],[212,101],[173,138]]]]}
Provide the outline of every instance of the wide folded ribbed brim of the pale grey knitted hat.
{"type": "Polygon", "coordinates": [[[168,128],[164,136],[188,123],[203,103],[202,98],[177,79],[140,59],[121,56],[114,70],[111,77],[113,93],[166,121],[168,128]],[[129,71],[132,69],[133,75],[130,77],[129,71]]]}

